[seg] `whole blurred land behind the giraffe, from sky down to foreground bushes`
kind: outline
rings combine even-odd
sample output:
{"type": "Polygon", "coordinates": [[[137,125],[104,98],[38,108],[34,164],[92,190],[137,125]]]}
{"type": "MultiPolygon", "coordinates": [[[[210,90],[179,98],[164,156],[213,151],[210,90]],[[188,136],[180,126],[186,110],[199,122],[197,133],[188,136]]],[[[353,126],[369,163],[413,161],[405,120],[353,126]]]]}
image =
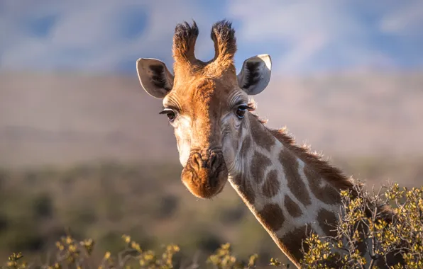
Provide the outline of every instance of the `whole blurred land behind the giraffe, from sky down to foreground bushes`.
{"type": "MultiPolygon", "coordinates": [[[[369,188],[422,185],[423,73],[276,77],[255,99],[271,127],[369,188]]],[[[0,261],[45,258],[64,227],[95,239],[97,258],[122,234],[186,256],[229,241],[236,256],[282,258],[229,184],[213,200],[185,189],[160,108],[136,76],[0,74],[0,261]]]]}

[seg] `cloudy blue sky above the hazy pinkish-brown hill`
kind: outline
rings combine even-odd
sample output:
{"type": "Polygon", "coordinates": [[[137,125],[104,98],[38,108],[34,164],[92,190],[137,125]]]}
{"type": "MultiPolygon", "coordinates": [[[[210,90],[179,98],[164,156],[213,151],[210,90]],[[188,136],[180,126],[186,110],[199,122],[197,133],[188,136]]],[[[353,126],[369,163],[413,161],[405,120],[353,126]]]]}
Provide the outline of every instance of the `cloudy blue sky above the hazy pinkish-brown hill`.
{"type": "Polygon", "coordinates": [[[268,53],[279,74],[423,69],[421,0],[0,0],[0,71],[135,74],[139,57],[171,68],[175,25],[192,18],[204,60],[212,23],[233,21],[237,68],[268,53]]]}

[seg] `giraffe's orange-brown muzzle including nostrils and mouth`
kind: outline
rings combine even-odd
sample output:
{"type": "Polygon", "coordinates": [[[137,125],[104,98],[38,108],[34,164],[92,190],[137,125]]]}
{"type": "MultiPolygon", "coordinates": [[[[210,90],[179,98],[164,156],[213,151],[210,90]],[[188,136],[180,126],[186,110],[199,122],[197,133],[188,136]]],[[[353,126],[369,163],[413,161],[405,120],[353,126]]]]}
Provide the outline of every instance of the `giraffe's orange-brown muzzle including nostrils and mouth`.
{"type": "Polygon", "coordinates": [[[182,182],[198,198],[209,199],[221,193],[228,179],[223,154],[192,152],[182,170],[182,182]]]}

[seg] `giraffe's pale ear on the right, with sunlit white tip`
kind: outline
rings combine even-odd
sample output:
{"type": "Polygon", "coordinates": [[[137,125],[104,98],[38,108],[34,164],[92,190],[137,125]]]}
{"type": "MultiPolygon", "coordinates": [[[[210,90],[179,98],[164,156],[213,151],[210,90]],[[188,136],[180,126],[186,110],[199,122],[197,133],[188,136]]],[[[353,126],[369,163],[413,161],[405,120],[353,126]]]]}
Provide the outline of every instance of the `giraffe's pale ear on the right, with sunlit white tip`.
{"type": "Polygon", "coordinates": [[[249,96],[261,93],[270,81],[272,60],[270,55],[256,55],[246,59],[238,74],[238,85],[249,96]]]}

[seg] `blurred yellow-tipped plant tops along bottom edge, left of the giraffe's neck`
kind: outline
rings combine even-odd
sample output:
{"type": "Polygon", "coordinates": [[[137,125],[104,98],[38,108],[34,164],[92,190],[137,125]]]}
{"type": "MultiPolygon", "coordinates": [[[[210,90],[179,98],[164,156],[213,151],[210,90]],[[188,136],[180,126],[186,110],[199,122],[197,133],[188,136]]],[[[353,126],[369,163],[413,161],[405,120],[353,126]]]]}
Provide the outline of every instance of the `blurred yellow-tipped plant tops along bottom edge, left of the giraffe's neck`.
{"type": "MultiPolygon", "coordinates": [[[[126,246],[116,256],[112,256],[110,251],[104,253],[103,258],[97,265],[97,268],[228,268],[228,269],[244,269],[244,268],[256,268],[257,267],[257,254],[249,256],[245,261],[238,260],[232,255],[231,245],[229,243],[222,244],[219,248],[212,253],[206,261],[198,261],[198,258],[194,256],[192,260],[182,261],[180,256],[177,254],[180,252],[180,248],[177,245],[163,246],[160,253],[155,253],[151,250],[143,250],[141,246],[131,240],[131,236],[123,235],[123,241],[126,246]]],[[[95,266],[91,261],[92,251],[94,249],[94,241],[92,239],[84,239],[83,241],[77,241],[71,235],[62,236],[60,241],[56,242],[57,251],[53,259],[45,261],[44,263],[28,263],[24,259],[22,253],[12,253],[9,256],[4,266],[0,265],[0,268],[48,268],[48,269],[60,269],[60,268],[93,268],[95,266]]],[[[268,266],[276,266],[280,268],[289,268],[290,265],[280,263],[278,259],[271,258],[268,266]]]]}

